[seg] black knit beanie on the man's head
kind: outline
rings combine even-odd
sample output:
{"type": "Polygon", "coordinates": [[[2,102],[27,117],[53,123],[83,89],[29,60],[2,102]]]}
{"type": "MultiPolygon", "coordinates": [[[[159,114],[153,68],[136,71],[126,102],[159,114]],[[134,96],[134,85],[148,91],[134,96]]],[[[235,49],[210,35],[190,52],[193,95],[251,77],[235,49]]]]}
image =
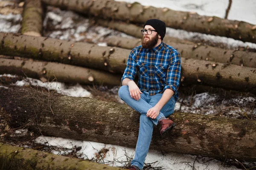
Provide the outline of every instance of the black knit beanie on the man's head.
{"type": "Polygon", "coordinates": [[[145,22],[143,28],[145,28],[146,25],[152,26],[155,30],[157,30],[157,33],[161,36],[161,40],[163,41],[163,37],[166,33],[166,25],[163,21],[157,19],[150,19],[145,22]]]}

